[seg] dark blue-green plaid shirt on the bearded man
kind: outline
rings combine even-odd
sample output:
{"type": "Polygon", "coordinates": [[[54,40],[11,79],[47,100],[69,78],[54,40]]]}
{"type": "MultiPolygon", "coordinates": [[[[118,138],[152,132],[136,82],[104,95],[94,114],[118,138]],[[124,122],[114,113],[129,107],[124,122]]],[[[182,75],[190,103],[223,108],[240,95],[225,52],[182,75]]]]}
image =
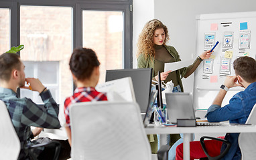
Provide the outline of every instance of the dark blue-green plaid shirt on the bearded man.
{"type": "MultiPolygon", "coordinates": [[[[18,98],[11,89],[0,87],[0,99],[5,103],[11,117],[11,121],[21,142],[21,151],[18,159],[27,159],[27,146],[31,145],[29,139],[30,126],[42,128],[60,128],[58,120],[59,107],[52,98],[49,90],[41,94],[44,107],[39,107],[27,98],[18,98]]],[[[34,153],[40,154],[41,149],[34,153]]]]}

